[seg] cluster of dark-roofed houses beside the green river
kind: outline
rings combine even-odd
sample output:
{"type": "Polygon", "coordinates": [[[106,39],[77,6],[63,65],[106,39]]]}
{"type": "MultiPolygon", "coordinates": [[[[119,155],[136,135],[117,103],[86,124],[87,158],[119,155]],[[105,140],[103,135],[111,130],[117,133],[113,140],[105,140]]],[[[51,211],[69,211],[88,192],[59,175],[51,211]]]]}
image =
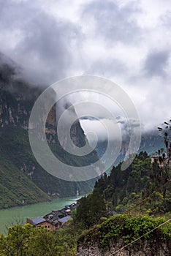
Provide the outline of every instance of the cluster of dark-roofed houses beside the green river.
{"type": "Polygon", "coordinates": [[[80,200],[65,206],[61,210],[53,210],[45,217],[38,217],[35,219],[26,219],[26,222],[34,227],[45,227],[48,231],[55,231],[61,227],[68,225],[69,219],[72,219],[72,211],[80,205],[80,200]]]}

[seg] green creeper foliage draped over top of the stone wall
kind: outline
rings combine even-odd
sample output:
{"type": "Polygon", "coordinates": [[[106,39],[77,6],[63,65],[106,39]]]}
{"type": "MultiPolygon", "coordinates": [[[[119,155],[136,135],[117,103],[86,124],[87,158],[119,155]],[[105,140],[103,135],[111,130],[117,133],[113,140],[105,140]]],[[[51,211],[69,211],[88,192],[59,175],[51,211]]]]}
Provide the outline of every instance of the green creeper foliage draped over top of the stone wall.
{"type": "MultiPolygon", "coordinates": [[[[130,217],[118,215],[110,217],[100,225],[96,225],[86,234],[80,236],[79,241],[88,243],[89,241],[99,241],[102,249],[107,249],[109,241],[122,238],[124,244],[129,244],[137,238],[142,241],[148,239],[153,244],[154,241],[171,241],[171,223],[164,218],[151,218],[147,216],[130,217]],[[159,227],[159,225],[161,225],[159,227]],[[156,229],[156,227],[158,227],[156,229]],[[153,230],[154,229],[154,230],[153,230]],[[151,231],[153,230],[153,231],[151,231]],[[145,235],[145,236],[144,236],[145,235]]],[[[136,243],[134,244],[136,246],[136,243]]]]}

